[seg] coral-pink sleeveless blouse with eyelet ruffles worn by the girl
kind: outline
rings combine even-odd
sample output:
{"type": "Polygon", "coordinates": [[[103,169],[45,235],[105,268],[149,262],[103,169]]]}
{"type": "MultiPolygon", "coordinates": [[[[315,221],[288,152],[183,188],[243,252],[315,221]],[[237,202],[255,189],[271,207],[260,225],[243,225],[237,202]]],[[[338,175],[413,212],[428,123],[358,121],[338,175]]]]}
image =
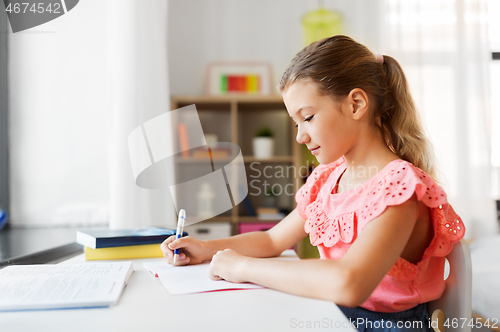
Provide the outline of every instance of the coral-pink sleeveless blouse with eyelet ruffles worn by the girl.
{"type": "Polygon", "coordinates": [[[343,157],[316,167],[295,196],[305,231],[321,258],[342,258],[367,223],[415,193],[431,210],[434,237],[416,265],[399,257],[361,307],[398,312],[441,297],[445,256],[465,233],[443,189],[424,171],[399,159],[355,190],[336,194],[345,169],[343,157]]]}

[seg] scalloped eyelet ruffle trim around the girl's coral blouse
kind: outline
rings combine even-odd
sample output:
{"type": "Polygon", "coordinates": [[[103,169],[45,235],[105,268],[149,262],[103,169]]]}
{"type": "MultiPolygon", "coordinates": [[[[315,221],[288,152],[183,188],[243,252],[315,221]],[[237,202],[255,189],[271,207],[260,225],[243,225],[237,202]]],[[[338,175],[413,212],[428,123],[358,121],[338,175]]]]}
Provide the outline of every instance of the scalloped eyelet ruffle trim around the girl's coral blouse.
{"type": "MultiPolygon", "coordinates": [[[[332,247],[338,241],[351,243],[357,233],[368,222],[382,214],[388,206],[400,205],[415,193],[418,200],[431,208],[434,237],[417,265],[400,257],[388,272],[398,279],[412,280],[417,275],[418,265],[421,262],[431,256],[446,256],[451,251],[453,243],[463,238],[465,227],[448,204],[446,193],[429,175],[403,160],[393,161],[390,164],[394,165],[384,168],[374,178],[368,180],[361,190],[333,194],[328,204],[335,208],[326,209],[328,213],[325,213],[322,196],[316,199],[319,190],[316,190],[314,196],[310,195],[308,199],[303,200],[300,200],[298,192],[296,198],[298,208],[303,209],[304,219],[307,219],[304,229],[309,233],[311,244],[332,247]],[[349,199],[349,202],[355,203],[345,204],[346,195],[357,196],[349,199]]],[[[311,184],[318,185],[317,181],[321,181],[318,187],[321,188],[335,168],[321,169],[320,171],[324,173],[316,174],[316,180],[311,181],[311,184]],[[325,179],[321,178],[323,174],[328,174],[325,179]]],[[[307,194],[311,189],[306,184],[301,190],[307,194]]]]}

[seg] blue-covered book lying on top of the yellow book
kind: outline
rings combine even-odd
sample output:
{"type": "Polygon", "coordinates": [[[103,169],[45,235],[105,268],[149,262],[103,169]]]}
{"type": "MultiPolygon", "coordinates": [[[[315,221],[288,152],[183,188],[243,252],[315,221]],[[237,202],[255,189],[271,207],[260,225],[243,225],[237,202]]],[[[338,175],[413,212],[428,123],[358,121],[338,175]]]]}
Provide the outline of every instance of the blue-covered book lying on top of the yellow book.
{"type": "MultiPolygon", "coordinates": [[[[159,244],[172,235],[175,236],[175,229],[161,227],[79,230],[76,232],[76,242],[92,249],[98,249],[159,244]]],[[[182,236],[186,235],[186,232],[182,234],[182,236]]]]}

